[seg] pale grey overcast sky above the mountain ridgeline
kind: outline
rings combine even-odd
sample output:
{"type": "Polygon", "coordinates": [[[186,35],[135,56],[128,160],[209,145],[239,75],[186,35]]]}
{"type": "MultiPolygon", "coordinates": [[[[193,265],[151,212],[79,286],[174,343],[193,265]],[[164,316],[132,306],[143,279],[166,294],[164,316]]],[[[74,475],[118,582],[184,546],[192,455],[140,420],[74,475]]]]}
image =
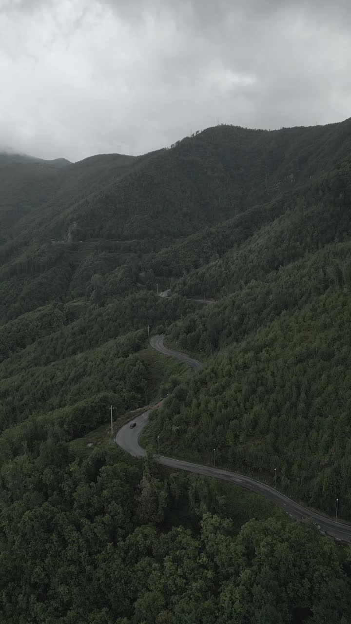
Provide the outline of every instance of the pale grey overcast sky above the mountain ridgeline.
{"type": "Polygon", "coordinates": [[[340,121],[350,32],[347,0],[0,0],[0,148],[75,161],[217,118],[340,121]]]}

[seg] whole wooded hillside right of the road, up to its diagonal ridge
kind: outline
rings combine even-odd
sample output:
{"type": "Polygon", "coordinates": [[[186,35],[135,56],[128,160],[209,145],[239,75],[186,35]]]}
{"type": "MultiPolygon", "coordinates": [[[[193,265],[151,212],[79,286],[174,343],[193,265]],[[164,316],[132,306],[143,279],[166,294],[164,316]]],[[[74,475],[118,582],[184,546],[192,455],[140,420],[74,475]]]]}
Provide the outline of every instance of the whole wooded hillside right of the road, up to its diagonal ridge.
{"type": "MultiPolygon", "coordinates": [[[[262,207],[259,225],[245,222],[255,213],[241,215],[237,230],[229,224],[233,248],[175,283],[175,292],[218,299],[168,330],[172,344],[201,350],[207,365],[146,434],[158,432],[165,452],[197,461],[215,447],[225,466],[271,482],[278,467],[282,489],[330,513],[340,497],[344,517],[351,517],[350,180],[344,161],[262,207]]],[[[186,254],[191,266],[200,239],[204,255],[215,251],[214,231],[193,236],[178,246],[171,272],[189,270],[186,254]]],[[[171,253],[161,251],[157,262],[162,256],[171,253]]]]}

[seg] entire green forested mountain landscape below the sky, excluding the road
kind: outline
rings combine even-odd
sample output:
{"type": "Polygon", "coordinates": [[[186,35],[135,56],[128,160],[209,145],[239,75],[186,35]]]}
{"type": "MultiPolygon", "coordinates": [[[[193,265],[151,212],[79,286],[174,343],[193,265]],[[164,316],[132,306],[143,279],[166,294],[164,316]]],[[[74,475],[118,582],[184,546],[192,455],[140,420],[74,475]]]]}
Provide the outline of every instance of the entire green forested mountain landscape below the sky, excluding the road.
{"type": "Polygon", "coordinates": [[[169,393],[151,454],[157,436],[205,464],[215,447],[351,521],[350,134],[218,126],[140,157],[0,156],[0,624],[351,621],[346,547],[109,433],[111,404],[116,432],[169,393]],[[200,373],[148,326],[201,352],[200,373]]]}

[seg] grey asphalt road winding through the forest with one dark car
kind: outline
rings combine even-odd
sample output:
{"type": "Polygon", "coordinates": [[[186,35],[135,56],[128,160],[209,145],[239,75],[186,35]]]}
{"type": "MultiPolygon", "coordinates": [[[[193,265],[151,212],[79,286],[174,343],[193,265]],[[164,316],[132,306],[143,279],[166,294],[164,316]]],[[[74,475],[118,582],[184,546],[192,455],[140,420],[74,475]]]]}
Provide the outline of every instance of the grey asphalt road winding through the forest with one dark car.
{"type": "MultiPolygon", "coordinates": [[[[202,364],[196,359],[189,358],[189,356],[184,353],[178,353],[177,351],[172,351],[172,349],[167,349],[163,344],[163,339],[164,336],[153,336],[150,341],[152,348],[164,355],[172,356],[173,358],[177,358],[189,364],[195,371],[199,371],[199,369],[202,368],[202,364]]],[[[142,429],[147,425],[150,412],[151,409],[141,414],[141,416],[137,416],[133,421],[127,422],[127,424],[117,432],[115,438],[117,444],[134,457],[146,456],[146,451],[139,445],[138,439],[142,429]],[[133,429],[129,427],[131,422],[136,422],[136,426],[133,429]]],[[[229,470],[212,468],[210,466],[200,466],[199,464],[192,464],[191,462],[180,461],[179,459],[172,459],[171,457],[164,457],[162,455],[157,455],[156,461],[162,466],[178,470],[187,470],[187,472],[195,472],[195,474],[204,477],[214,477],[215,479],[222,479],[234,483],[235,485],[245,487],[251,490],[251,492],[264,496],[265,499],[272,500],[272,502],[297,520],[302,520],[304,518],[313,520],[320,532],[330,535],[334,537],[334,539],[342,542],[351,541],[351,525],[337,522],[325,515],[307,509],[307,507],[299,505],[299,503],[294,502],[294,500],[289,499],[284,494],[280,494],[278,490],[256,479],[251,479],[237,472],[230,472],[229,470]]]]}

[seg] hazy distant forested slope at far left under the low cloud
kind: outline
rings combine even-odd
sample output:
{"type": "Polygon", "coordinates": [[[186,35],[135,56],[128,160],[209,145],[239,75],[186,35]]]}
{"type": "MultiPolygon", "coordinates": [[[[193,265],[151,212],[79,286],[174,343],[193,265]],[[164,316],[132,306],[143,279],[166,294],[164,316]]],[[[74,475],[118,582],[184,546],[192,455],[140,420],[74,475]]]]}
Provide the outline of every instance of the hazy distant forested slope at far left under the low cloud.
{"type": "MultiPolygon", "coordinates": [[[[42,223],[51,220],[57,211],[62,212],[83,197],[108,187],[137,160],[132,156],[106,154],[62,167],[61,159],[28,158],[18,162],[0,159],[0,218],[4,240],[20,235],[22,241],[46,241],[47,237],[41,237],[38,232],[42,223]],[[23,231],[28,233],[26,237],[21,237],[23,231]]],[[[67,235],[68,228],[60,238],[66,239],[67,235]]]]}

